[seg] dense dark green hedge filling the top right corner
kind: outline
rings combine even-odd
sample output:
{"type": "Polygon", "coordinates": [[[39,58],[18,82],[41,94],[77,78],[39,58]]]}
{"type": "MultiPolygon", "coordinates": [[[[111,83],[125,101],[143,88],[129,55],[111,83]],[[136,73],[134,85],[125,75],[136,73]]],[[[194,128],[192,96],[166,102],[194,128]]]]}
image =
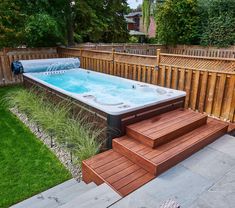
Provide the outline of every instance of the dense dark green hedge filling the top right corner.
{"type": "Polygon", "coordinates": [[[234,0],[210,0],[201,8],[201,43],[219,47],[235,44],[234,0]]]}

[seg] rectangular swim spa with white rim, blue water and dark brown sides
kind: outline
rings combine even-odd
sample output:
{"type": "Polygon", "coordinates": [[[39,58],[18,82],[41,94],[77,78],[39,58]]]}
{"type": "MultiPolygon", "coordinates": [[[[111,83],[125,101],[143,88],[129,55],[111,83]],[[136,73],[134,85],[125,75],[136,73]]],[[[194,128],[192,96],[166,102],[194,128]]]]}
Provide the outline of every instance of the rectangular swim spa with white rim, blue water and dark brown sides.
{"type": "Polygon", "coordinates": [[[69,99],[107,127],[108,146],[125,134],[125,126],[184,106],[186,93],[82,68],[28,72],[27,87],[39,87],[69,99]]]}

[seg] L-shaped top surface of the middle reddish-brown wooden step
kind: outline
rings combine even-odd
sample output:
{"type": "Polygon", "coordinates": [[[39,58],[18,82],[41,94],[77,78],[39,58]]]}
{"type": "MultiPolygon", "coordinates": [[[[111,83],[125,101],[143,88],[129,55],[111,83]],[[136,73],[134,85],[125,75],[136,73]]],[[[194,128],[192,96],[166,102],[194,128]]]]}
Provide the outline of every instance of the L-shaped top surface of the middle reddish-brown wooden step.
{"type": "Polygon", "coordinates": [[[146,163],[150,163],[150,165],[157,167],[158,164],[176,156],[177,154],[180,154],[194,145],[197,145],[198,142],[204,140],[206,141],[210,135],[219,132],[226,126],[228,126],[226,123],[222,123],[214,119],[208,119],[207,124],[155,148],[146,146],[141,142],[127,136],[114,139],[113,147],[115,151],[118,151],[119,147],[116,144],[121,145],[126,148],[126,151],[131,151],[134,153],[132,154],[132,157],[137,155],[138,157],[146,160],[146,163]]]}

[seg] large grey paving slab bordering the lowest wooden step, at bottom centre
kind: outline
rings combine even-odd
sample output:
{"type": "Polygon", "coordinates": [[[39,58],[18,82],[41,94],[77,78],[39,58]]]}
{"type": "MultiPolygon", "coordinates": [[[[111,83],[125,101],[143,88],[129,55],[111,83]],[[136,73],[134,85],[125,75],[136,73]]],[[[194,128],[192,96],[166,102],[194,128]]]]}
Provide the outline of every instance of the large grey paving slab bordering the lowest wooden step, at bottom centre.
{"type": "Polygon", "coordinates": [[[211,185],[210,180],[177,165],[111,207],[157,208],[169,199],[187,207],[211,185]]]}

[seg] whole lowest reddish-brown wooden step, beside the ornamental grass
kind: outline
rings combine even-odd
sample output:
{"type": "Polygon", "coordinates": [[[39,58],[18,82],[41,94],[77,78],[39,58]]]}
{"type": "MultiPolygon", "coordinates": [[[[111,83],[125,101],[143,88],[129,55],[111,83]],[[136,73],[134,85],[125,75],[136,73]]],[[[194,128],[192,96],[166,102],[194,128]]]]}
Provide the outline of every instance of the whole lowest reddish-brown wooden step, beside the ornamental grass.
{"type": "Polygon", "coordinates": [[[121,196],[138,189],[155,176],[125,156],[109,150],[82,163],[83,181],[107,183],[121,196]]]}

